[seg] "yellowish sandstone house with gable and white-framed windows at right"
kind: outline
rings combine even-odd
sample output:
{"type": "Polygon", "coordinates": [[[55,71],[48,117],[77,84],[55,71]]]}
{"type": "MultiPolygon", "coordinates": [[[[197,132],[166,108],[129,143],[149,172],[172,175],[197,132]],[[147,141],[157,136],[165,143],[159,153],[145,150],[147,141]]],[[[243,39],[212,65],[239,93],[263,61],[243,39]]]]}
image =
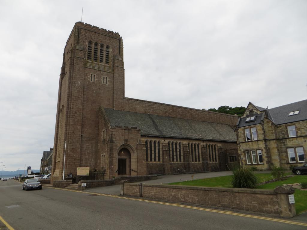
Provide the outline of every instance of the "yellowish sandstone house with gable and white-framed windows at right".
{"type": "Polygon", "coordinates": [[[272,109],[250,102],[236,133],[241,165],[259,170],[302,165],[307,149],[307,100],[272,109]]]}

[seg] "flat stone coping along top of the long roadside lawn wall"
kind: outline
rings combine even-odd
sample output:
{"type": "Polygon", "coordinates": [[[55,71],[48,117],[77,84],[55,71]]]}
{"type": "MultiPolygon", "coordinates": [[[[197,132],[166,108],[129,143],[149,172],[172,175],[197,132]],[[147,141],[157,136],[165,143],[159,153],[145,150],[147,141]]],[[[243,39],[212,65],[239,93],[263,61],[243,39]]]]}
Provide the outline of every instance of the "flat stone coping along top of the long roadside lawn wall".
{"type": "MultiPolygon", "coordinates": [[[[125,185],[138,186],[139,184],[125,183],[125,185]]],[[[142,184],[143,187],[158,187],[158,188],[172,188],[172,189],[189,189],[189,190],[205,190],[218,192],[236,192],[248,194],[268,194],[276,195],[274,190],[270,189],[242,189],[242,188],[222,188],[222,187],[203,187],[203,186],[186,186],[186,185],[165,185],[165,184],[142,184]]]]}

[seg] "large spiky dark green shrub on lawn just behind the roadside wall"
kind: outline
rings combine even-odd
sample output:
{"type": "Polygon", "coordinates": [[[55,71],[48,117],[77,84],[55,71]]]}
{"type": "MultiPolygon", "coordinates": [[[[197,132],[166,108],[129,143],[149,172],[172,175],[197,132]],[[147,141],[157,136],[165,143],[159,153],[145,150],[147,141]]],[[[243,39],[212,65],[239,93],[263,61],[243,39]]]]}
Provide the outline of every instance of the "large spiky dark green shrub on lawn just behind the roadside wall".
{"type": "Polygon", "coordinates": [[[232,171],[231,185],[234,188],[253,189],[257,184],[257,177],[249,168],[236,168],[232,171]]]}

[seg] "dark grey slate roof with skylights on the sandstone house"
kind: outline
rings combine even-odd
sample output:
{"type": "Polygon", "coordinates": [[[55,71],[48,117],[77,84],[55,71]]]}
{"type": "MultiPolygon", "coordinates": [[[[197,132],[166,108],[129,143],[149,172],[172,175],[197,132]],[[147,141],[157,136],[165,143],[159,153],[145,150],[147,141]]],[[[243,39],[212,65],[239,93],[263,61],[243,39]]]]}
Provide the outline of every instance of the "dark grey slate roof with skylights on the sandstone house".
{"type": "MultiPolygon", "coordinates": [[[[251,103],[252,104],[252,103],[251,103]]],[[[254,105],[254,104],[253,104],[254,105]]],[[[287,105],[278,106],[272,109],[264,109],[262,107],[254,105],[259,111],[263,113],[257,114],[256,120],[246,122],[246,117],[240,117],[237,123],[237,127],[245,127],[250,125],[260,124],[264,118],[264,114],[275,124],[282,125],[287,123],[293,123],[297,121],[307,120],[307,100],[294,102],[287,105]],[[299,114],[289,116],[290,112],[300,110],[299,114]]],[[[247,117],[250,117],[248,115],[247,117]]]]}

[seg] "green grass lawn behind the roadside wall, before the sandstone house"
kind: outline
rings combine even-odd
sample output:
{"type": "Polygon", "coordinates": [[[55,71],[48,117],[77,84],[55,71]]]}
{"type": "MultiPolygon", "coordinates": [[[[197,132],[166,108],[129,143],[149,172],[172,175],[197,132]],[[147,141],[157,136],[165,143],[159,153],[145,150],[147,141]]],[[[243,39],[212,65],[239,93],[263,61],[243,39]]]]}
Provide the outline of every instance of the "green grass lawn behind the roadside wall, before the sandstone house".
{"type": "MultiPolygon", "coordinates": [[[[258,182],[268,181],[272,179],[272,175],[270,173],[258,173],[255,174],[258,178],[258,182]]],[[[214,177],[214,178],[205,178],[193,181],[182,181],[176,183],[170,183],[170,185],[188,185],[188,186],[205,186],[205,187],[231,187],[231,177],[232,176],[223,176],[223,177],[214,177]]],[[[260,185],[258,189],[274,189],[277,186],[281,186],[283,184],[293,184],[293,183],[301,183],[307,182],[307,175],[293,176],[287,178],[283,181],[276,181],[269,184],[260,185]]],[[[307,191],[303,190],[295,190],[294,193],[295,199],[295,209],[296,213],[300,214],[307,211],[307,191]]]]}

